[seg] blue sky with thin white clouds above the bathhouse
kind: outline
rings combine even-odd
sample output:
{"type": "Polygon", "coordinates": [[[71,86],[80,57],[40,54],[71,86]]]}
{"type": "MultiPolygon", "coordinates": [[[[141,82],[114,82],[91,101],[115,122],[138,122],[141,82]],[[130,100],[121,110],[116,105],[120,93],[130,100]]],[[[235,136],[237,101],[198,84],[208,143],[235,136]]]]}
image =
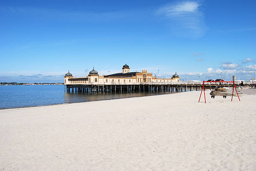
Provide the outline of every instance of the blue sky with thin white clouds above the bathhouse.
{"type": "MultiPolygon", "coordinates": [[[[63,82],[92,67],[252,79],[256,2],[0,1],[0,82],[63,82]]],[[[199,77],[200,76],[200,77],[199,77]]]]}

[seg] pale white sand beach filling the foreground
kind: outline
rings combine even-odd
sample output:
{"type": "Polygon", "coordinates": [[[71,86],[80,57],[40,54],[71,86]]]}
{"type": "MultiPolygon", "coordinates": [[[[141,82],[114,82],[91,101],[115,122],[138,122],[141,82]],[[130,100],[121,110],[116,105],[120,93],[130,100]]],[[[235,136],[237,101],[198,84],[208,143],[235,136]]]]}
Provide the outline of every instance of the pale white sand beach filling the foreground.
{"type": "Polygon", "coordinates": [[[0,169],[256,170],[256,95],[209,93],[0,110],[0,169]]]}

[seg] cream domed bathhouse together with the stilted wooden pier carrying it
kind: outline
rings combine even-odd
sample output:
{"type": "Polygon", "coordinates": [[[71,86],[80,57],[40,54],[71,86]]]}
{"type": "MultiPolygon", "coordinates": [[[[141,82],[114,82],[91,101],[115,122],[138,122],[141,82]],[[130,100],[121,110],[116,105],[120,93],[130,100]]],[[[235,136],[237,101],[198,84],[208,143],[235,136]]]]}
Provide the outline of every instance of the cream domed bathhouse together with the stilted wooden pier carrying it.
{"type": "MultiPolygon", "coordinates": [[[[201,90],[202,81],[180,81],[175,73],[172,78],[157,78],[152,72],[130,72],[130,67],[125,64],[121,73],[99,75],[93,68],[86,77],[76,78],[68,72],[64,75],[64,85],[67,92],[100,93],[100,92],[134,92],[134,91],[192,91],[201,90]]],[[[224,83],[225,84],[225,83],[224,83]]],[[[205,83],[207,89],[218,86],[219,83],[205,83]]],[[[236,83],[237,85],[237,83],[236,83]]],[[[233,86],[226,83],[225,86],[233,86]]],[[[65,90],[66,90],[65,88],[65,90]]]]}

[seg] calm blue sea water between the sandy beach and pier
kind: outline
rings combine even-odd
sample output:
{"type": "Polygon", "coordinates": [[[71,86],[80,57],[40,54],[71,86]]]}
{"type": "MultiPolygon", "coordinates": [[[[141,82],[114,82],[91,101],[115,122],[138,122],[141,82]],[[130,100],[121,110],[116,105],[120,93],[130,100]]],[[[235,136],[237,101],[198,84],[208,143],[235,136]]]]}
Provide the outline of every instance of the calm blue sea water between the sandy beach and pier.
{"type": "Polygon", "coordinates": [[[0,109],[154,96],[169,92],[65,93],[64,85],[0,85],[0,109]]]}

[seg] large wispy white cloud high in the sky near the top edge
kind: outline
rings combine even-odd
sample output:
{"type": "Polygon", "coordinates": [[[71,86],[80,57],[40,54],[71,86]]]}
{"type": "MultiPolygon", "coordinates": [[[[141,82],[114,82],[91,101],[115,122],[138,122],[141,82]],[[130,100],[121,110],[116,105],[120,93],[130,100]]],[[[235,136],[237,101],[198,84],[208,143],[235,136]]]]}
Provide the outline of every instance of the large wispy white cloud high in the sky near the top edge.
{"type": "Polygon", "coordinates": [[[204,23],[204,14],[200,11],[197,1],[184,1],[165,5],[156,11],[165,23],[170,23],[172,31],[182,31],[190,37],[201,37],[207,27],[204,23]]]}

